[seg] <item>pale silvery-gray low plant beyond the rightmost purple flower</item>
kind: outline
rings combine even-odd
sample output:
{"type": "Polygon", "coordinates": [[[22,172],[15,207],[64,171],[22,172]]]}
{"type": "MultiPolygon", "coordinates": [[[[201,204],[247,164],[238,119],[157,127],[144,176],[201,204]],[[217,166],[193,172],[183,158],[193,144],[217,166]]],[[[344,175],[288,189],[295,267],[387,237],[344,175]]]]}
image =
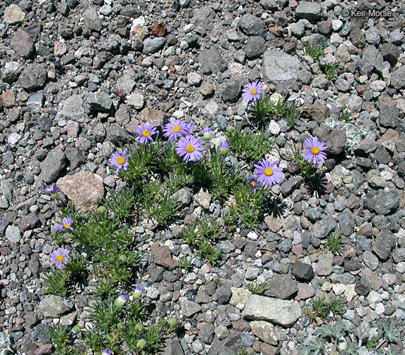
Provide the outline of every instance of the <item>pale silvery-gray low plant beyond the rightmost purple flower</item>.
{"type": "Polygon", "coordinates": [[[364,122],[342,122],[336,117],[327,118],[321,125],[330,128],[342,129],[346,132],[346,149],[352,150],[353,146],[359,144],[363,139],[375,138],[377,131],[375,131],[372,124],[364,124],[364,122]]]}

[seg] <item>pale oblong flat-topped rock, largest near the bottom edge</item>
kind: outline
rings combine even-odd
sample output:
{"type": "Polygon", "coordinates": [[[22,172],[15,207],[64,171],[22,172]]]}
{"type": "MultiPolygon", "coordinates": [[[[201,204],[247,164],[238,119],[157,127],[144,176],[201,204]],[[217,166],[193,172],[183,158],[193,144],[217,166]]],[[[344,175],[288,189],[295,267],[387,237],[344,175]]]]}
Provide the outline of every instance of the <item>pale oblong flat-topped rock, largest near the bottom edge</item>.
{"type": "Polygon", "coordinates": [[[243,309],[243,318],[253,321],[269,321],[290,327],[301,316],[301,307],[292,301],[252,295],[243,309]]]}

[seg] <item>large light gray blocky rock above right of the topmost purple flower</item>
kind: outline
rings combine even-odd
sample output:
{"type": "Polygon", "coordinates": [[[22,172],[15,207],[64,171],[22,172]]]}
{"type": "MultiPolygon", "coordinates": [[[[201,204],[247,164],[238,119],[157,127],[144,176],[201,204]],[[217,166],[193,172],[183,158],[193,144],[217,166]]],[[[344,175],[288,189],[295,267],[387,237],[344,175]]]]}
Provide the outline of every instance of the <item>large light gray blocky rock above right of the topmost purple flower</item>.
{"type": "Polygon", "coordinates": [[[294,84],[301,69],[300,60],[275,48],[264,53],[262,67],[265,77],[276,85],[294,84]]]}

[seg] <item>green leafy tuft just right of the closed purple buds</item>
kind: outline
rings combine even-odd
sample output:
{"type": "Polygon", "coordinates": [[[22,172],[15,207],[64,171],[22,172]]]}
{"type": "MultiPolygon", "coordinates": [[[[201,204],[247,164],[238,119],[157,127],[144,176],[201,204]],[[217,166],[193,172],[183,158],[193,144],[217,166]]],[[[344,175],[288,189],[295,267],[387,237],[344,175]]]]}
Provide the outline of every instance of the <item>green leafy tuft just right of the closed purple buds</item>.
{"type": "Polygon", "coordinates": [[[275,140],[264,131],[252,131],[236,128],[226,133],[229,148],[237,157],[259,160],[274,147],[275,140]]]}

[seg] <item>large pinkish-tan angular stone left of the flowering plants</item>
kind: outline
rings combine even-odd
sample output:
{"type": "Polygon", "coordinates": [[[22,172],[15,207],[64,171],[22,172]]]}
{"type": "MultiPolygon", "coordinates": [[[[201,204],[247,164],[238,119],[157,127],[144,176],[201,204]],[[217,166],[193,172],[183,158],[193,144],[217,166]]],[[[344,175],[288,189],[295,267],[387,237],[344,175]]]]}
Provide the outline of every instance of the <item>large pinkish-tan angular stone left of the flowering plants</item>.
{"type": "Polygon", "coordinates": [[[104,195],[102,179],[92,172],[78,172],[58,180],[60,191],[71,200],[75,207],[90,212],[98,207],[104,195]]]}

